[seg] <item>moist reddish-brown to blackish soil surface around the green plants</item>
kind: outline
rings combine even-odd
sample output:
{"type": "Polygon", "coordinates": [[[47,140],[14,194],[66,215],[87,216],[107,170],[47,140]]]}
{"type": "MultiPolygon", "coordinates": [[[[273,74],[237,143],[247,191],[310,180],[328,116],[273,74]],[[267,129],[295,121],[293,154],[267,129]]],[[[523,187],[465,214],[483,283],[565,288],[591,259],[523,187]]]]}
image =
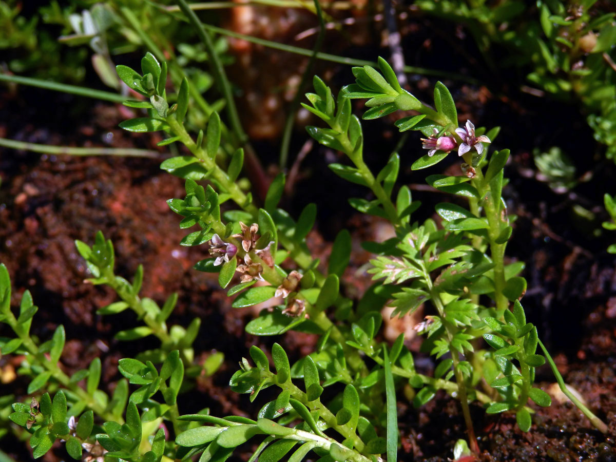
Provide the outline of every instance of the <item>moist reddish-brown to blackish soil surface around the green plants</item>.
{"type": "MultiPolygon", "coordinates": [[[[333,86],[339,86],[336,81],[351,81],[347,70],[337,70],[332,79],[333,86]]],[[[428,94],[433,83],[421,78],[412,84],[418,92],[424,89],[428,94]]],[[[614,193],[616,169],[611,161],[588,152],[586,140],[591,139],[591,133],[574,107],[525,94],[508,99],[498,96],[505,85],[496,83],[487,89],[454,83],[453,95],[460,102],[461,120],[469,117],[503,126],[494,147],[508,147],[512,152],[506,168],[511,182],[504,195],[509,213],[516,214],[517,221],[508,255],[527,264],[523,274],[529,283],[524,298],[527,316],[538,326],[565,382],[608,424],[609,434],[593,429],[569,402],[559,401],[551,371],[542,367],[537,371],[538,386],[553,393],[553,405],[533,407],[536,413],[530,432],[517,429],[513,416],[486,415],[479,405],[472,405],[483,450],[480,460],[616,461],[616,261],[605,251],[614,237],[600,231],[600,223],[606,219],[602,193],[614,193]],[[541,110],[534,109],[537,107],[541,110]],[[545,113],[561,116],[552,122],[545,113]],[[533,146],[547,150],[552,145],[564,146],[577,167],[577,176],[585,177],[585,182],[556,193],[537,179],[529,150],[533,146]],[[578,207],[588,213],[580,214],[578,207]]],[[[101,387],[107,391],[120,378],[119,359],[156,346],[155,339],[120,342],[113,338],[116,331],[135,325],[129,312],[107,317],[95,314],[116,301],[115,294],[84,283],[86,265],[73,242],[92,243],[95,232],[102,230],[115,245],[116,274],[130,280],[138,265],[144,265],[142,296],[162,304],[172,292],[179,294],[170,325],[186,326],[194,317],[201,318],[195,342],[197,357],[205,360],[215,351],[225,354],[224,364],[214,376],[199,380],[197,389],[180,396],[180,413],[209,407],[213,415],[254,415],[261,405],[249,403],[247,395],[235,394],[228,387],[241,357],[252,345],[269,351],[278,341],[291,352],[293,362],[312,351],[315,338],[292,332],[275,339],[246,334],[244,326],[256,315],[254,310],[232,309],[215,275],[192,269],[205,257],[205,251],[179,246],[186,232],[177,226],[179,219],[166,200],[183,197],[184,185],[183,180],[159,169],[161,160],[169,156],[155,147],[160,137],[134,136],[118,129],[117,124],[126,118],[120,106],[84,103],[36,89],[0,96],[0,136],[57,145],[154,148],[161,153],[156,159],[76,158],[0,148],[0,261],[12,278],[13,305],[17,306],[23,291],[30,290],[39,307],[32,333],[44,341],[57,325],[64,325],[67,346],[63,370],[70,375],[100,357],[101,387]]],[[[367,162],[380,168],[398,135],[391,121],[368,124],[367,162]]],[[[306,140],[303,133],[298,127],[291,161],[306,140]]],[[[266,136],[261,138],[256,148],[264,153],[262,163],[267,167],[275,162],[271,153],[277,152],[278,146],[266,136]]],[[[410,171],[419,151],[418,137],[411,134],[400,150],[400,184],[408,184],[413,198],[423,201],[415,218],[425,219],[431,216],[435,203],[452,199],[431,192],[423,182],[423,172],[410,171]]],[[[315,256],[324,261],[336,233],[343,228],[351,231],[356,251],[342,286],[347,295],[356,296],[370,284],[367,275],[357,276],[369,257],[359,243],[377,240],[387,229],[378,219],[355,214],[347,205],[349,197],[366,197],[365,190],[333,176],[326,164],[336,160],[337,153],[313,146],[282,206],[296,216],[307,203],[317,203],[317,227],[308,241],[315,256]]],[[[460,174],[458,169],[458,160],[452,155],[432,173],[460,174]]],[[[275,174],[275,168],[268,172],[275,174]]],[[[0,335],[7,334],[6,328],[0,328],[0,335]]],[[[416,352],[418,341],[411,339],[408,346],[416,352]]],[[[431,373],[431,359],[416,354],[416,362],[431,373]]],[[[0,395],[14,394],[15,399],[24,400],[28,381],[12,373],[19,362],[10,355],[0,359],[0,395]]],[[[400,393],[399,426],[399,459],[405,461],[450,460],[456,440],[465,437],[458,402],[440,393],[418,410],[410,405],[407,394],[400,393]]],[[[16,461],[31,460],[26,445],[12,437],[0,440],[0,447],[16,461]]],[[[233,457],[246,460],[249,449],[243,448],[233,457]]],[[[44,460],[67,460],[67,454],[57,444],[44,460]]]]}

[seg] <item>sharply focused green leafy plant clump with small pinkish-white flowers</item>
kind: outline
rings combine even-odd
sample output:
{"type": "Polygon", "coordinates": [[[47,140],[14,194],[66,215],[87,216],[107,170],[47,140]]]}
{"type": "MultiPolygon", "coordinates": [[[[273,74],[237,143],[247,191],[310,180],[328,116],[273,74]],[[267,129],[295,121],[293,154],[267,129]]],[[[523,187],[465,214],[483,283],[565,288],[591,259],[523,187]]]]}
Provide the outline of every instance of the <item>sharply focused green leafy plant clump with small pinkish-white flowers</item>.
{"type": "MultiPolygon", "coordinates": [[[[147,110],[147,116],[121,126],[134,132],[165,131],[169,137],[162,145],[180,142],[192,153],[170,158],[161,168],[186,179],[186,196],[168,203],[182,216],[180,228],[198,227],[181,244],[208,245],[211,258],[195,264],[195,269],[216,272],[222,288],[237,280],[228,290],[229,296],[235,297],[233,307],[276,299],[274,309],[263,310],[246,325],[249,333],[272,336],[296,330],[317,334],[319,340],[312,354],[293,365],[283,347],[274,344],[274,370],[258,347],[249,351],[253,363],[241,360],[240,370],[230,380],[234,391],[249,394],[254,401],[263,389],[278,389],[277,397],[264,403],[256,419],[218,418],[208,410],[180,415],[176,397],[185,388],[188,371],[196,367],[190,346],[198,322],[185,331],[171,328],[168,333],[165,320],[175,299],[162,309],[140,299],[142,271],[132,284],[115,276],[113,246],[99,234],[94,246],[81,242],[77,246],[94,276],[92,282],[110,285],[122,299],[105,307],[103,314],[131,308],[145,325],[118,335],[133,339],[154,334],[161,339],[160,349],[120,361],[122,375],[137,388],[129,396],[128,383],[121,381],[116,388],[118,396],[108,399],[97,390],[100,363],[73,378],[57,367],[64,341],[62,328],[41,345],[30,338],[28,330],[36,309],[26,295],[19,316],[12,314],[10,282],[2,268],[2,321],[17,334],[17,338],[3,342],[2,351],[26,354],[26,364],[35,376],[29,392],[44,386],[57,390],[53,400],[44,394],[31,403],[13,405],[10,418],[32,434],[35,456],[62,439],[73,458],[79,458],[86,448],[92,459],[157,462],[200,455],[200,462],[224,461],[239,445],[260,438],[251,461],[276,462],[292,452],[289,460],[298,462],[311,451],[323,461],[368,462],[385,456],[395,461],[399,439],[395,393],[405,384],[414,390],[417,407],[439,389],[457,397],[473,452],[479,452],[469,413],[473,400],[482,403],[487,413],[515,413],[522,431],[529,431],[529,398],[540,406],[548,406],[550,398],[533,387],[535,368],[545,363],[545,357],[537,354],[537,346],[543,349],[543,345],[537,328],[526,322],[519,302],[526,288],[524,278],[518,276],[524,265],[505,264],[506,243],[513,231],[513,217],[508,216],[501,197],[509,152],[501,150],[488,156],[488,145],[498,128],[484,133],[471,121],[458,127],[455,103],[442,83],[436,84],[434,107],[429,107],[400,87],[384,60],[379,59],[379,67],[383,75],[368,66],[354,68],[357,83],[342,89],[337,99],[315,78],[315,93],[307,95],[312,105],[304,104],[329,126],[309,127],[310,135],[345,153],[351,162],[330,164],[331,170],[344,180],[364,185],[375,196],[370,201],[351,199],[351,206],[383,217],[395,230],[394,238],[364,244],[375,254],[368,272],[376,282],[359,301],[353,301],[343,296],[339,283],[351,254],[349,233],[343,230],[336,237],[326,267],[313,259],[305,238],[314,224],[316,208],[308,205],[296,218],[278,208],[283,174],[272,182],[264,206],[259,208],[238,182],[243,166],[241,148],[229,158],[219,149],[219,116],[212,113],[206,131],[200,131],[196,139],[184,128],[189,104],[187,81],[176,95],[168,97],[166,65],[152,55],[142,61],[141,74],[118,66],[124,83],[147,98],[125,103],[147,110]],[[395,123],[400,131],[423,133],[421,141],[428,153],[411,168],[429,168],[457,151],[463,160],[462,174],[431,175],[427,181],[466,201],[468,208],[453,202],[437,205],[440,227],[431,219],[411,221],[419,203],[412,200],[408,187],[395,185],[400,156],[394,153],[377,174],[363,161],[362,126],[351,112],[354,98],[368,99],[369,109],[363,115],[367,120],[397,110],[416,111],[417,115],[395,123]],[[198,184],[203,180],[209,182],[206,187],[198,184]],[[256,285],[257,281],[265,284],[256,285]],[[416,330],[425,336],[423,349],[438,360],[433,375],[416,370],[403,334],[391,346],[379,340],[381,309],[386,304],[395,307],[394,315],[405,315],[421,305],[432,310],[416,330]],[[484,349],[482,339],[490,349],[484,349]],[[84,378],[85,388],[78,385],[84,378]],[[164,422],[171,424],[172,435],[161,428],[164,422]]],[[[547,355],[545,349],[543,352],[547,355]]],[[[549,355],[548,360],[557,374],[549,355]]],[[[570,395],[562,378],[557,375],[557,379],[570,395]]],[[[572,400],[593,424],[606,431],[590,410],[575,397],[572,400]]]]}

